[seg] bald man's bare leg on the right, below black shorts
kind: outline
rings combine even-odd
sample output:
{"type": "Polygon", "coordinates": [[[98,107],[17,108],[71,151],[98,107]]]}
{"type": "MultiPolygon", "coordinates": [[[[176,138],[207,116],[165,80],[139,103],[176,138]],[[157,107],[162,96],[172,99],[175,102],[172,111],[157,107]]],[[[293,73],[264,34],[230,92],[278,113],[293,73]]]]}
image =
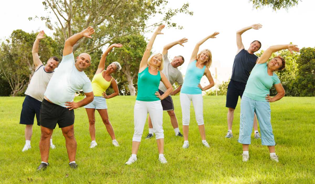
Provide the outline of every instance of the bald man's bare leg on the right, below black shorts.
{"type": "Polygon", "coordinates": [[[74,125],[61,128],[63,136],[66,138],[66,148],[68,152],[69,162],[76,160],[77,141],[74,137],[74,125]]]}

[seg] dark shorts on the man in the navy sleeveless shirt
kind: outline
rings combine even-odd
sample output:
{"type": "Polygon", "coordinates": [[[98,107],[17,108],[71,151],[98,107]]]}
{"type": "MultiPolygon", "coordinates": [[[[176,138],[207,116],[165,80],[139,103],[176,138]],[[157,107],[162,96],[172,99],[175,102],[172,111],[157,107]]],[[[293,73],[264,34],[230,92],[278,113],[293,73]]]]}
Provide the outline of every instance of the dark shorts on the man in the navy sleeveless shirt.
{"type": "Polygon", "coordinates": [[[238,96],[242,98],[245,86],[246,84],[242,82],[237,82],[235,80],[230,81],[229,85],[227,86],[226,107],[235,109],[238,102],[238,96]]]}

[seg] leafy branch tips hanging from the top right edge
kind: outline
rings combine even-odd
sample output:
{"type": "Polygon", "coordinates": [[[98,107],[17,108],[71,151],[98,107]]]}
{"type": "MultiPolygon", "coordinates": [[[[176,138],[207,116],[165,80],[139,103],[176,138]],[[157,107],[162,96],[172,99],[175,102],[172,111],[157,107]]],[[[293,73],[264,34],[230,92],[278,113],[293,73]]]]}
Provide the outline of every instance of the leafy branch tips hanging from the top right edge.
{"type": "Polygon", "coordinates": [[[277,9],[285,9],[288,11],[289,8],[296,6],[301,0],[249,0],[253,2],[253,8],[258,9],[264,6],[272,7],[274,11],[277,9]]]}

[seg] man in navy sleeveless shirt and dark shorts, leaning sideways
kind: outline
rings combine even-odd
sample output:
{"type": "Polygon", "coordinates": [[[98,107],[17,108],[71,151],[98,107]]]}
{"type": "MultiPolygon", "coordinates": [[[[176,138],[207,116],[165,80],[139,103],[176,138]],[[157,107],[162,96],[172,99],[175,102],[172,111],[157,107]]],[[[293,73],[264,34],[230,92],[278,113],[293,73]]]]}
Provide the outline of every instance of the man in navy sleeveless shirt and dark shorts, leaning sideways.
{"type": "MultiPolygon", "coordinates": [[[[226,107],[228,108],[228,112],[227,112],[228,131],[225,136],[226,138],[233,137],[232,123],[233,123],[233,118],[234,118],[234,110],[238,102],[238,96],[242,98],[249,74],[254,68],[256,62],[258,61],[258,57],[254,53],[261,48],[260,41],[254,40],[249,45],[249,48],[245,50],[244,45],[242,43],[241,35],[249,29],[260,29],[261,27],[262,27],[261,24],[253,24],[251,26],[244,27],[243,29],[240,29],[236,32],[236,45],[238,47],[238,51],[234,58],[232,77],[227,87],[227,94],[226,94],[226,107]]],[[[254,117],[254,130],[255,130],[255,138],[256,139],[260,138],[260,134],[258,132],[258,127],[257,127],[256,114],[254,117]]]]}

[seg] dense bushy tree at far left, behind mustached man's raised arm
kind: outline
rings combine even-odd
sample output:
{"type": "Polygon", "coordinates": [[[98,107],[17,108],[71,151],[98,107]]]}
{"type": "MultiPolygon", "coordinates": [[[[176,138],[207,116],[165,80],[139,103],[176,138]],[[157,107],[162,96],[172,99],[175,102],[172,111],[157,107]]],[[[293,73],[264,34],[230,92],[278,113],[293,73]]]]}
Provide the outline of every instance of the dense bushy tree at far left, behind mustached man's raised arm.
{"type": "MultiPolygon", "coordinates": [[[[31,52],[36,35],[15,30],[0,46],[1,77],[9,83],[12,96],[23,95],[34,74],[31,52]]],[[[47,36],[41,40],[38,52],[43,63],[51,56],[61,56],[61,48],[47,36]]]]}

